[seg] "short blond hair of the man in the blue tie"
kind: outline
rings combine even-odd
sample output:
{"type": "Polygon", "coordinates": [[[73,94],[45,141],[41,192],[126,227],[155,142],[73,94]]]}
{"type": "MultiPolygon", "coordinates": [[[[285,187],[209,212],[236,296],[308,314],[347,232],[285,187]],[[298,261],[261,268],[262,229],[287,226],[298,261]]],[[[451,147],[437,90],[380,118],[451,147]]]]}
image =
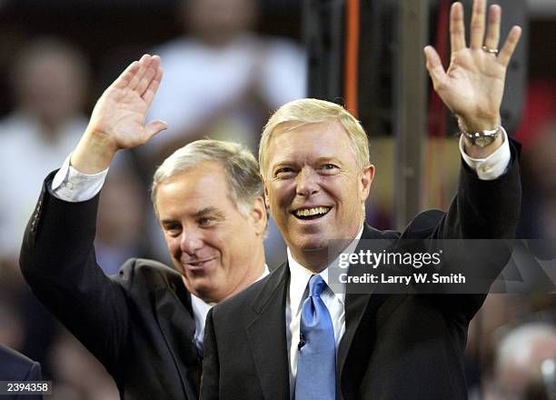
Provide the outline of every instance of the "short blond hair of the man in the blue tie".
{"type": "Polygon", "coordinates": [[[357,166],[363,168],[370,165],[369,139],[362,125],[342,105],[336,105],[324,100],[303,98],[286,103],[276,110],[266,125],[264,125],[261,143],[259,144],[259,167],[261,175],[266,171],[266,156],[274,129],[280,124],[299,123],[295,127],[306,124],[337,121],[350,136],[353,155],[357,166]]]}

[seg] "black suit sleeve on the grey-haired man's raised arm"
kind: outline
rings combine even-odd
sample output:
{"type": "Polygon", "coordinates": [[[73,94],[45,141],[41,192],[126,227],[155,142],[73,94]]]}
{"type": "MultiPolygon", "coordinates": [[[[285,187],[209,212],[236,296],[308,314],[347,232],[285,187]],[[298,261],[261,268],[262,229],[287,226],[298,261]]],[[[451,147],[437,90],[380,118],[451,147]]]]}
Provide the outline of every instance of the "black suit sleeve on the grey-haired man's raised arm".
{"type": "Polygon", "coordinates": [[[45,179],[20,253],[25,280],[38,299],[114,375],[128,330],[120,285],[96,264],[94,235],[99,195],[69,203],[45,179]]]}

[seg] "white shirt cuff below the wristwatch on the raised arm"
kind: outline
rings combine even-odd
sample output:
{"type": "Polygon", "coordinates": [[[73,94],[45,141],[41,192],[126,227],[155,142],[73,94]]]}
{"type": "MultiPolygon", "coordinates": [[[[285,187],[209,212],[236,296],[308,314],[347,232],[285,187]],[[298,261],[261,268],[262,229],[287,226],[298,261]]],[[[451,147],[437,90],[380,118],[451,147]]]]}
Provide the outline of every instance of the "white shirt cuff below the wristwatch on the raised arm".
{"type": "Polygon", "coordinates": [[[460,153],[462,153],[465,164],[475,171],[479,179],[493,181],[504,175],[510,165],[510,141],[506,130],[501,126],[502,145],[486,158],[472,158],[465,153],[463,146],[463,135],[460,136],[460,153]]]}

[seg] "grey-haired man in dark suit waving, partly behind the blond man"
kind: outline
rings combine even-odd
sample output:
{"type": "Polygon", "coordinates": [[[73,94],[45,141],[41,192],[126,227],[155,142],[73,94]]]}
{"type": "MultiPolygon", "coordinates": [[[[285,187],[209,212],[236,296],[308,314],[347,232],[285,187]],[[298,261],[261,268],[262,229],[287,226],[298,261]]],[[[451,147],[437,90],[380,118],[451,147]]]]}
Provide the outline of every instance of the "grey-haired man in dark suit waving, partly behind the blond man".
{"type": "Polygon", "coordinates": [[[174,269],[131,259],[108,277],[96,265],[98,193],[117,150],[165,128],[144,124],[161,79],[160,58],[144,55],[104,92],[74,152],[45,179],[20,264],[35,295],[104,364],[123,398],[191,400],[206,313],[267,273],[267,217],[253,155],[197,141],[154,174],[154,211],[174,269]]]}

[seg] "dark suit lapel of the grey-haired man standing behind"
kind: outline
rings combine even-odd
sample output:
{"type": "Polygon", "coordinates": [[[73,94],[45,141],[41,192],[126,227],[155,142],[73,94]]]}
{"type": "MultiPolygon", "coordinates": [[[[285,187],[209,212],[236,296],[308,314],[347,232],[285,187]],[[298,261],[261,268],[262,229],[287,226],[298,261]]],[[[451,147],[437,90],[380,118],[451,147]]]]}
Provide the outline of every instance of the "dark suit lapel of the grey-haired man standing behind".
{"type": "Polygon", "coordinates": [[[177,285],[172,285],[172,288],[156,290],[154,298],[156,319],[174,359],[186,398],[198,398],[201,360],[194,345],[195,324],[191,311],[191,295],[185,292],[180,281],[177,285]],[[173,289],[183,290],[184,293],[178,296],[173,289]],[[184,301],[187,304],[184,305],[184,301]]]}

